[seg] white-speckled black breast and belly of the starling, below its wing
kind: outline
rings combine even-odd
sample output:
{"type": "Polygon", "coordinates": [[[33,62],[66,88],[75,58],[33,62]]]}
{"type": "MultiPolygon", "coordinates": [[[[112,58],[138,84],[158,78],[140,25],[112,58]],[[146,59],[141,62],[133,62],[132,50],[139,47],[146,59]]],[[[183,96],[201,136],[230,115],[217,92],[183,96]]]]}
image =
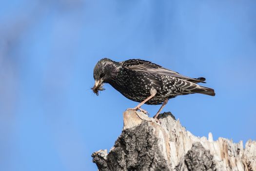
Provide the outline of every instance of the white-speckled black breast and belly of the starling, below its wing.
{"type": "Polygon", "coordinates": [[[166,98],[171,98],[174,93],[175,80],[168,76],[153,75],[145,72],[119,71],[115,80],[110,82],[115,89],[130,100],[142,102],[149,97],[152,88],[157,90],[157,94],[146,104],[162,104],[166,98]]]}

